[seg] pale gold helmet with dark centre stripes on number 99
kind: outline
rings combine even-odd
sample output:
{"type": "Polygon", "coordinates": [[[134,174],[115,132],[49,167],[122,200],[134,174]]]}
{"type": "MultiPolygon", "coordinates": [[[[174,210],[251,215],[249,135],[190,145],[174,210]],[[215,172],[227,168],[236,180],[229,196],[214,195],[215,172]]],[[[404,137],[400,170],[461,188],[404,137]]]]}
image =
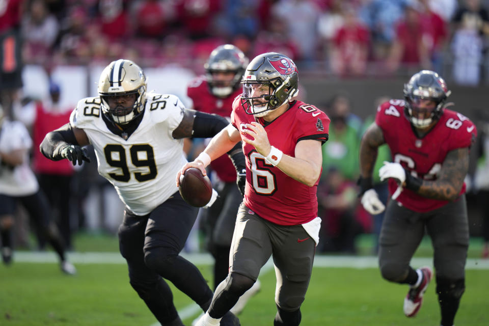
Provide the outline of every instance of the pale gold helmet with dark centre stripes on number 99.
{"type": "Polygon", "coordinates": [[[117,124],[127,124],[144,112],[146,76],[130,60],[119,59],[103,69],[98,82],[102,113],[117,124]]]}

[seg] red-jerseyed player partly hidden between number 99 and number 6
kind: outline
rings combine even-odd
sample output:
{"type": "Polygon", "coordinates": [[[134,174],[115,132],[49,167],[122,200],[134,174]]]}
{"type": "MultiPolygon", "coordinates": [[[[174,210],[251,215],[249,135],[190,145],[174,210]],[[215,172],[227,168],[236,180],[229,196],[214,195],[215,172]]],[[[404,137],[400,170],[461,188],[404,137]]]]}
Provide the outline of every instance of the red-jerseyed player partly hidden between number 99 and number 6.
{"type": "MultiPolygon", "coordinates": [[[[187,87],[194,110],[229,119],[233,100],[242,93],[239,83],[247,65],[248,58],[236,46],[225,44],[215,48],[204,65],[206,74],[196,77],[187,87]]],[[[214,257],[215,289],[228,275],[234,221],[242,196],[236,187],[236,169],[227,155],[213,160],[210,167],[218,176],[212,185],[219,198],[206,210],[203,221],[208,231],[207,249],[214,257]]]]}

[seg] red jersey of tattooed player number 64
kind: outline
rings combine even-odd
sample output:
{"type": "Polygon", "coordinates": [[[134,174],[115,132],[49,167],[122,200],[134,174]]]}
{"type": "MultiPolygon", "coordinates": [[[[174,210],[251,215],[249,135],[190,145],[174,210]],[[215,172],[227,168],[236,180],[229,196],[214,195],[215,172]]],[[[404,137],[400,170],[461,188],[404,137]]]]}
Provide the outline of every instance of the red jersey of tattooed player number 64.
{"type": "MultiPolygon", "coordinates": [[[[446,108],[436,125],[422,138],[414,133],[411,123],[404,115],[404,100],[392,99],[377,109],[375,123],[382,129],[394,162],[400,163],[411,174],[436,180],[447,153],[470,147],[477,136],[475,125],[467,117],[446,108]]],[[[389,192],[397,189],[394,179],[389,179],[389,192]]],[[[464,194],[464,183],[460,194],[464,194]]],[[[427,212],[449,203],[446,200],[430,199],[404,189],[397,201],[417,212],[427,212]]]]}

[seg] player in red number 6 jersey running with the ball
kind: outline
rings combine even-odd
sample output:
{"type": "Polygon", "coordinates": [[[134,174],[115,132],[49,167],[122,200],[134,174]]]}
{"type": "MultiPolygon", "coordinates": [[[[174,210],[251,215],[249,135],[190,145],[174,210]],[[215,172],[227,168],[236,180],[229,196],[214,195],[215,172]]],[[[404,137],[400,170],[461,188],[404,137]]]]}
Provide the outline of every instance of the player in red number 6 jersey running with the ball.
{"type": "Polygon", "coordinates": [[[214,292],[198,326],[219,325],[221,317],[255,283],[273,255],[277,274],[274,325],[298,325],[318,242],[316,188],[321,145],[330,119],[315,106],[295,99],[297,69],[284,55],[257,56],[242,79],[231,124],[217,134],[190,167],[205,173],[210,161],[243,142],[246,188],[239,206],[229,274],[214,292]]]}

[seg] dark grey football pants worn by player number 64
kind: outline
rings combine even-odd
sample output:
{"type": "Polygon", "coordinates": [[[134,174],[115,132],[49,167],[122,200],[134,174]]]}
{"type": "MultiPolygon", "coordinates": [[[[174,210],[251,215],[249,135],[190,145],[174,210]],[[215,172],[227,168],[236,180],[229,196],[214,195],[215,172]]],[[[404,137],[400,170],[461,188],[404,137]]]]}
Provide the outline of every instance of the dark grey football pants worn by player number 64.
{"type": "Polygon", "coordinates": [[[379,238],[379,265],[384,278],[402,280],[425,229],[431,238],[437,277],[465,277],[469,248],[469,223],[465,195],[430,212],[418,213],[391,200],[386,208],[379,238]]]}

